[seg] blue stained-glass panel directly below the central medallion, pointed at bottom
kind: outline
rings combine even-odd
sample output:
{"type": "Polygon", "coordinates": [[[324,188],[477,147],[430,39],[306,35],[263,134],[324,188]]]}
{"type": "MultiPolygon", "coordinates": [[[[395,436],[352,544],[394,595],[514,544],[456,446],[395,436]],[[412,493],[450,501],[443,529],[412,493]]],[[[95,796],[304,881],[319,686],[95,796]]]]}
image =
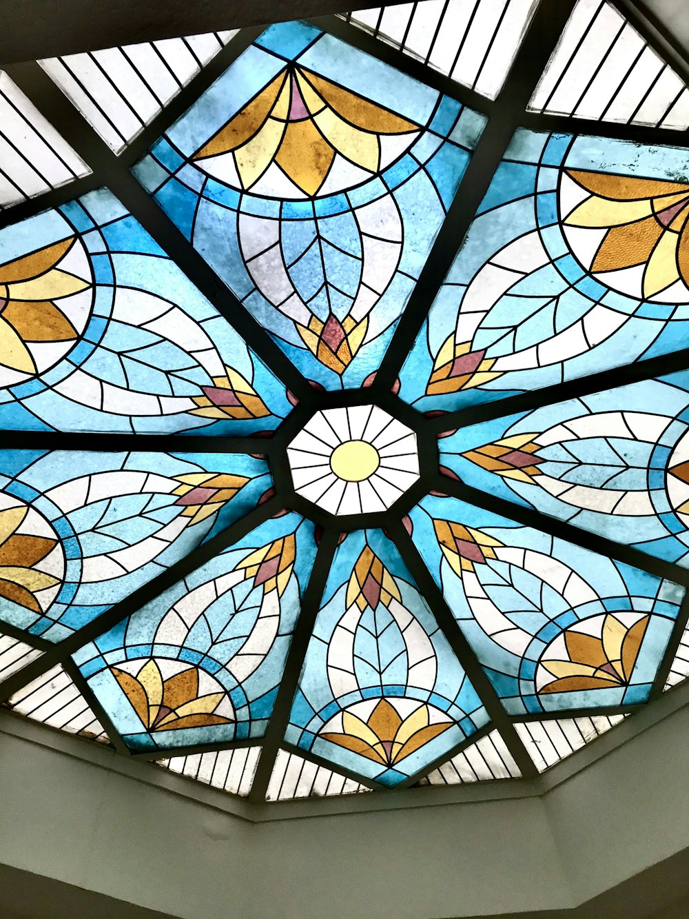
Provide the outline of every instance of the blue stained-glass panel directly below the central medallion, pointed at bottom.
{"type": "Polygon", "coordinates": [[[469,678],[380,530],[337,549],[286,740],[396,786],[488,722],[469,678]]]}

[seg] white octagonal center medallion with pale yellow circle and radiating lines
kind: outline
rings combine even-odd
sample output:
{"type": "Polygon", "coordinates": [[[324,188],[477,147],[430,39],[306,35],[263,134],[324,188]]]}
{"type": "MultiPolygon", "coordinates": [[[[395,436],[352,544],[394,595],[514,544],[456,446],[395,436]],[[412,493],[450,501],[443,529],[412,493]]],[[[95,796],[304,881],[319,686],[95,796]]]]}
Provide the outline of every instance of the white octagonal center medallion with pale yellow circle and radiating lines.
{"type": "Polygon", "coordinates": [[[316,412],[288,460],[297,494],[337,516],[387,510],[419,478],[416,434],[377,405],[316,412]]]}

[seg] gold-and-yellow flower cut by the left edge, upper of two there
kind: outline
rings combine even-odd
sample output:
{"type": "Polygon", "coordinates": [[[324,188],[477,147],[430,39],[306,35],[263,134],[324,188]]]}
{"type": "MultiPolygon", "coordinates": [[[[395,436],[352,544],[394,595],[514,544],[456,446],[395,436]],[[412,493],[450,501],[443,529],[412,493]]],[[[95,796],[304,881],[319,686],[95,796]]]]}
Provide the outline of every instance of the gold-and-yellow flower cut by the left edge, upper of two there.
{"type": "Polygon", "coordinates": [[[70,320],[54,301],[90,287],[59,266],[75,237],[45,246],[0,265],[0,364],[34,374],[36,364],[27,343],[65,342],[77,338],[70,320]]]}

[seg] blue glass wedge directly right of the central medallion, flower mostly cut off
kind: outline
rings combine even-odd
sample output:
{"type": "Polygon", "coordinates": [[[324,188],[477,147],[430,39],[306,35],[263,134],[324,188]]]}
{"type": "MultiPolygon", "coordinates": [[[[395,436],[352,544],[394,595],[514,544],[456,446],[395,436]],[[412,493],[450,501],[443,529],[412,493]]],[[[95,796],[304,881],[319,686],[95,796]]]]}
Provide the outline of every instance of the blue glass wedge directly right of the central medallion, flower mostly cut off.
{"type": "Polygon", "coordinates": [[[689,564],[689,373],[546,405],[439,440],[463,482],[689,564]]]}

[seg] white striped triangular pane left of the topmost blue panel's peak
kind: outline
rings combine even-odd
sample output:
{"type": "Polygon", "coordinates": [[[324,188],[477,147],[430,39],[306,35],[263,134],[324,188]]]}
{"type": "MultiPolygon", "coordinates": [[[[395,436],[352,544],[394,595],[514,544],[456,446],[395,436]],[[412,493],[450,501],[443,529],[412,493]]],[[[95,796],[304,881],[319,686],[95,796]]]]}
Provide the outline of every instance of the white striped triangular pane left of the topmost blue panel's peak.
{"type": "Polygon", "coordinates": [[[149,41],[39,63],[120,153],[234,35],[236,30],[149,41]]]}

